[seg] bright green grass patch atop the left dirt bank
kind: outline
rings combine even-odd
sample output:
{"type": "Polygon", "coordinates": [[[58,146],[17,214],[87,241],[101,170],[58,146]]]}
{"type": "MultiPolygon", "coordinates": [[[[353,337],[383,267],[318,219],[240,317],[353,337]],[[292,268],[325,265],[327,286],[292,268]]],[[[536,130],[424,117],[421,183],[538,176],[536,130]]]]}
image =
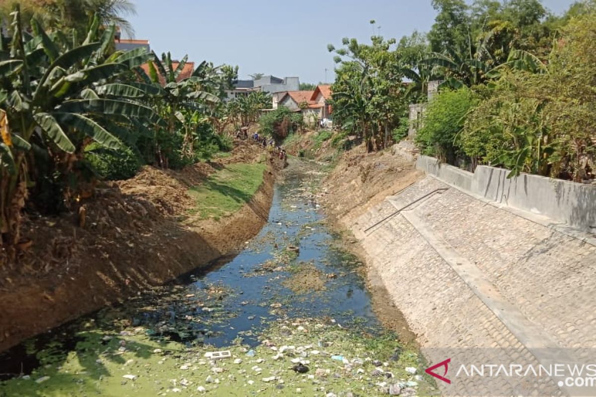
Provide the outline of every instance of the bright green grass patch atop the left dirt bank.
{"type": "Polygon", "coordinates": [[[197,201],[191,214],[201,219],[233,214],[252,199],[263,183],[265,164],[231,164],[209,176],[201,185],[191,187],[188,194],[197,201]]]}

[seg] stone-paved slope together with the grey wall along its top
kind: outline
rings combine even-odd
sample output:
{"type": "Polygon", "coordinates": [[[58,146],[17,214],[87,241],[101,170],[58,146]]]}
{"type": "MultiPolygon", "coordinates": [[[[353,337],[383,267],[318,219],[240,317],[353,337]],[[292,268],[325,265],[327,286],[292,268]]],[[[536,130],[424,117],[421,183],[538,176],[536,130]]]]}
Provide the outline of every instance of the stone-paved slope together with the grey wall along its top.
{"type": "MultiPolygon", "coordinates": [[[[417,164],[429,175],[351,227],[429,364],[451,358],[453,365],[548,365],[592,357],[595,239],[569,226],[594,224],[594,212],[586,214],[596,202],[594,188],[506,179],[506,170],[492,167],[473,174],[427,157],[417,164]]],[[[437,384],[445,395],[577,395],[539,378],[437,384]]]]}

